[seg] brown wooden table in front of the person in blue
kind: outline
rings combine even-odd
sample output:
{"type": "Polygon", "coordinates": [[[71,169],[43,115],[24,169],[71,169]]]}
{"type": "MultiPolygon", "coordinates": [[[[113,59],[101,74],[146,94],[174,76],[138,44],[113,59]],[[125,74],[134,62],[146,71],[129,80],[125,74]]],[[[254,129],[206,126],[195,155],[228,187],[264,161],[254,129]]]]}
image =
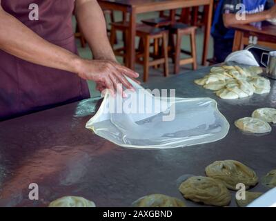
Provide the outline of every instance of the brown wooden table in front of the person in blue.
{"type": "Polygon", "coordinates": [[[259,44],[276,49],[276,26],[264,22],[262,28],[250,25],[232,26],[235,31],[233,51],[243,50],[244,45],[259,44]]]}

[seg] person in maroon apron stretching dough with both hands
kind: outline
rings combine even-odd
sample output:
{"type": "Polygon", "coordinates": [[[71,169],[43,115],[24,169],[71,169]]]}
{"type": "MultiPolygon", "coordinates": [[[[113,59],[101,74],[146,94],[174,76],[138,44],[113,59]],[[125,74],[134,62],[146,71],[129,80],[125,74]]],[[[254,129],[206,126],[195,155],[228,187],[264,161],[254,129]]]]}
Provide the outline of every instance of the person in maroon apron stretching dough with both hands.
{"type": "Polygon", "coordinates": [[[86,99],[85,80],[114,94],[138,77],[117,63],[96,0],[0,0],[0,64],[0,120],[86,99]],[[73,12],[92,60],[77,55],[73,12]]]}

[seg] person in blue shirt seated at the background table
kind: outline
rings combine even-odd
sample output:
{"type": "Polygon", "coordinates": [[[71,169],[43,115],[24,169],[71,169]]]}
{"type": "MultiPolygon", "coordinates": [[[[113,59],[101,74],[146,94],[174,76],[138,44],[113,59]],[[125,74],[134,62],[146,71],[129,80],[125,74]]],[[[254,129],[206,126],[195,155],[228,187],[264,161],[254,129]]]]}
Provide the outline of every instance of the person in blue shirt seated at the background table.
{"type": "Polygon", "coordinates": [[[247,23],[259,27],[262,21],[273,18],[274,0],[220,0],[212,26],[215,62],[223,62],[232,52],[235,30],[228,27],[247,23]]]}

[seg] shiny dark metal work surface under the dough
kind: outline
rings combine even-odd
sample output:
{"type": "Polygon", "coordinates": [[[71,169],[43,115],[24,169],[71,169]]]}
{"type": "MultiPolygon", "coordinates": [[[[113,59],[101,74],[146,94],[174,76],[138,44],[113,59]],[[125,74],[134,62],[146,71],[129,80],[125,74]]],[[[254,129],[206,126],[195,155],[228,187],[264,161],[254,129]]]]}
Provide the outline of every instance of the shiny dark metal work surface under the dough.
{"type": "MultiPolygon", "coordinates": [[[[0,123],[0,206],[48,206],[61,196],[77,195],[97,206],[131,206],[144,195],[162,193],[183,199],[181,175],[204,175],[215,160],[238,160],[259,177],[276,169],[276,127],[266,135],[248,135],[234,122],[260,107],[276,106],[276,84],[270,94],[223,100],[194,79],[204,68],[177,75],[147,88],[176,89],[177,97],[211,97],[228,119],[230,131],[218,142],[168,150],[116,146],[85,128],[95,102],[60,106],[0,123]],[[30,183],[39,185],[39,200],[28,199],[30,183]]],[[[267,191],[258,184],[252,191],[267,191]]],[[[230,206],[236,206],[233,200],[230,206]]],[[[188,206],[202,206],[185,200],[188,206]]]]}

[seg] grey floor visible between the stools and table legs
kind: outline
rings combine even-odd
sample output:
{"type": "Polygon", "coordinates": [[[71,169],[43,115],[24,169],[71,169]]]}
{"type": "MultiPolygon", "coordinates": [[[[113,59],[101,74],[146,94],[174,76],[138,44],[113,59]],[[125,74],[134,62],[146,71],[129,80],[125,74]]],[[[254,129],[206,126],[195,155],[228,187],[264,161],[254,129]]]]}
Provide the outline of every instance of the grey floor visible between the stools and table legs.
{"type": "MultiPolygon", "coordinates": [[[[141,17],[143,17],[143,19],[147,19],[147,18],[151,18],[151,17],[158,17],[158,13],[157,12],[151,12],[151,13],[139,15],[138,16],[138,21],[141,19],[141,17]]],[[[115,12],[115,19],[116,19],[116,21],[121,20],[121,14],[119,12],[115,12]]],[[[118,34],[117,36],[118,36],[118,39],[119,39],[118,46],[120,46],[122,44],[121,35],[118,34]]],[[[202,56],[202,50],[203,50],[203,40],[204,40],[204,30],[199,29],[199,30],[197,30],[197,61],[198,61],[198,64],[201,64],[201,56],[202,56]]],[[[79,41],[77,41],[77,46],[78,46],[79,54],[81,55],[81,57],[86,58],[86,59],[92,58],[92,54],[91,54],[90,49],[88,48],[88,46],[86,46],[86,48],[81,48],[79,41]]],[[[190,39],[188,37],[185,37],[183,39],[182,47],[186,50],[190,50],[190,39]]],[[[209,44],[208,57],[213,57],[213,39],[212,38],[211,38],[211,41],[210,41],[210,44],[209,44]]],[[[121,57],[118,57],[117,59],[118,59],[119,62],[121,62],[121,57]]],[[[172,61],[170,60],[170,77],[173,76],[172,68],[173,68],[172,61]]],[[[199,65],[198,68],[202,68],[202,67],[199,65]]],[[[142,77],[143,77],[143,66],[137,64],[135,66],[135,70],[137,71],[137,73],[140,74],[139,79],[142,79],[142,77]]],[[[191,65],[181,66],[180,73],[185,73],[189,70],[191,70],[191,65]]],[[[160,78],[163,78],[163,70],[162,69],[150,68],[150,77],[148,79],[148,82],[156,81],[157,79],[160,79],[160,78]]],[[[92,97],[98,96],[99,93],[95,90],[94,82],[89,81],[88,85],[89,85],[89,88],[90,88],[91,96],[92,97]]]]}

